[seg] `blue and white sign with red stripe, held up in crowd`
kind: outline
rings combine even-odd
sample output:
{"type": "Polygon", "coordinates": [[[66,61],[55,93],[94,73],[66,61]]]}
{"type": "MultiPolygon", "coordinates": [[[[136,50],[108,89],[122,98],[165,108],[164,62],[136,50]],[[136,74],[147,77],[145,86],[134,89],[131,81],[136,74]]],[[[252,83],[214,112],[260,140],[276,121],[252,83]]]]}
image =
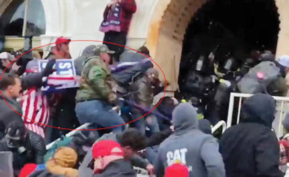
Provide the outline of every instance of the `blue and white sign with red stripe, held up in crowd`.
{"type": "MultiPolygon", "coordinates": [[[[39,60],[38,68],[39,72],[42,72],[48,60],[39,60]]],[[[50,88],[63,89],[63,88],[73,88],[79,87],[79,83],[75,80],[76,72],[73,65],[73,60],[71,59],[58,59],[56,60],[53,69],[56,69],[54,73],[47,78],[47,87],[42,88],[42,90],[48,90],[50,88]]]]}

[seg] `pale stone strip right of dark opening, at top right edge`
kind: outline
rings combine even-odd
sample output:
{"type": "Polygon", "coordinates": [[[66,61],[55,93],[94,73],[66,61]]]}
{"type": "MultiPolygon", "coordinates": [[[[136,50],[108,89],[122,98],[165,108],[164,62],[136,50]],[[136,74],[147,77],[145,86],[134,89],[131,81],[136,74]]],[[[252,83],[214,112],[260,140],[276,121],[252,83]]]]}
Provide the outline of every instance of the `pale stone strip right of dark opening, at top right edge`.
{"type": "Polygon", "coordinates": [[[289,1],[275,0],[278,8],[280,31],[276,50],[276,59],[282,55],[289,55],[289,1]]]}

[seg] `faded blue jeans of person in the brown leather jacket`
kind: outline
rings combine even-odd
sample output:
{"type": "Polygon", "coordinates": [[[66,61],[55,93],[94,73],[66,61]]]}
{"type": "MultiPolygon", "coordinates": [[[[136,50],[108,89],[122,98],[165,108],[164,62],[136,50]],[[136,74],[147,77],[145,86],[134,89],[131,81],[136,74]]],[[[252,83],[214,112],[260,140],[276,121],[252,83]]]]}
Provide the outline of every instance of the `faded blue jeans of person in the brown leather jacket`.
{"type": "MultiPolygon", "coordinates": [[[[135,120],[144,115],[145,113],[142,114],[141,111],[132,109],[131,114],[132,119],[135,120]]],[[[150,129],[151,134],[160,132],[159,124],[157,123],[157,117],[153,114],[148,114],[141,119],[134,121],[133,124],[141,132],[142,135],[145,135],[146,126],[148,126],[148,128],[150,129]]]]}

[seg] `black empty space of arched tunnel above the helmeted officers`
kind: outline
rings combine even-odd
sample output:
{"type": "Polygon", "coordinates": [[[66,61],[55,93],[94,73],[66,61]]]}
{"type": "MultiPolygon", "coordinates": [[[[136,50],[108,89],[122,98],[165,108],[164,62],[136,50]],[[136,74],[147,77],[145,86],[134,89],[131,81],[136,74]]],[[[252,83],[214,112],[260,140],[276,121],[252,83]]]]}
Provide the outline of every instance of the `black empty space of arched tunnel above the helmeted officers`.
{"type": "MultiPolygon", "coordinates": [[[[183,42],[179,72],[181,92],[190,70],[197,67],[198,58],[214,51],[215,62],[222,65],[234,57],[240,66],[256,51],[275,53],[279,19],[274,0],[213,0],[194,15],[183,42]]],[[[210,69],[207,69],[210,70],[210,69]]],[[[212,70],[212,69],[211,69],[212,70]]],[[[207,74],[212,71],[208,71],[207,74]]]]}

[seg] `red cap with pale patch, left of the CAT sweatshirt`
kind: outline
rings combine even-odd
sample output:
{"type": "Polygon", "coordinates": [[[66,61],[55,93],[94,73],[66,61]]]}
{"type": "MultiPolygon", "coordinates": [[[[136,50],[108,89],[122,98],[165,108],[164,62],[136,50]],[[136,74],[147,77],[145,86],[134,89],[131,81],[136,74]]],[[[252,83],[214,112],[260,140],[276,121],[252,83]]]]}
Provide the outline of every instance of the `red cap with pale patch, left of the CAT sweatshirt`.
{"type": "Polygon", "coordinates": [[[105,157],[109,155],[123,156],[123,149],[116,141],[103,140],[95,143],[92,147],[92,157],[105,157]]]}

